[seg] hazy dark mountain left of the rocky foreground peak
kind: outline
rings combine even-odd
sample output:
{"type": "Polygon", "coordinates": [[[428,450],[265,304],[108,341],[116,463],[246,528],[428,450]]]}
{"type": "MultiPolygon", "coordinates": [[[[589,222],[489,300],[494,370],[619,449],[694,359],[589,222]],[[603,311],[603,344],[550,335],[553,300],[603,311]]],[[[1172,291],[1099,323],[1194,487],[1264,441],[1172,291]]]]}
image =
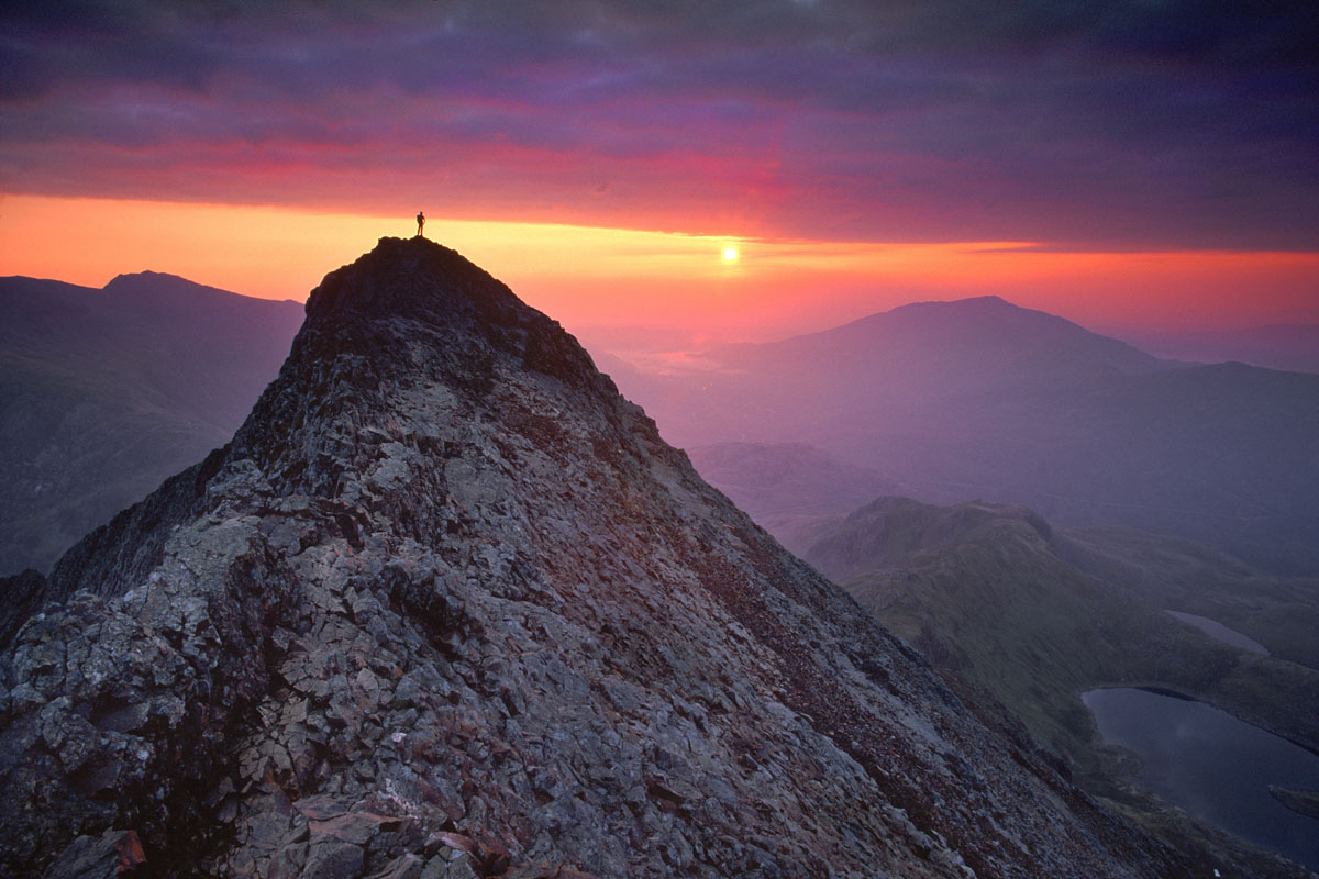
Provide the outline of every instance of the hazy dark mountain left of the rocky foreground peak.
{"type": "Polygon", "coordinates": [[[0,278],[0,573],[46,569],[227,443],[301,322],[301,303],[152,271],[0,278]]]}

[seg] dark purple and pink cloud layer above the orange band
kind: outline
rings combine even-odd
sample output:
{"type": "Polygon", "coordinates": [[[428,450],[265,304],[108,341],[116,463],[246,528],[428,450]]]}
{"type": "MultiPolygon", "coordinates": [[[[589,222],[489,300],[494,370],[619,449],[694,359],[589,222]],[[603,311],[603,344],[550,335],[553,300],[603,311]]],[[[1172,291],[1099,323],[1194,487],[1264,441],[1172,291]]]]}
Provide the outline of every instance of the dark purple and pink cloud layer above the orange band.
{"type": "Polygon", "coordinates": [[[9,191],[1319,246],[1312,3],[59,0],[0,83],[9,191]]]}

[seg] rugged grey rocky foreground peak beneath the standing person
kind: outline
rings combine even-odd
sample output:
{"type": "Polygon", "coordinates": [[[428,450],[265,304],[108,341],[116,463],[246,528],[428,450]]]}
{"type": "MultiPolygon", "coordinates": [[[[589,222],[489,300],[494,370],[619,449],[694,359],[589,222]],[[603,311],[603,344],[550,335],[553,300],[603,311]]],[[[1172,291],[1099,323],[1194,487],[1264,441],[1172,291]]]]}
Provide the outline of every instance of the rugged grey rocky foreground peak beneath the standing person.
{"type": "Polygon", "coordinates": [[[1196,866],[976,721],[422,239],[327,275],[233,441],[45,589],[0,660],[11,874],[128,833],[156,875],[1196,866]]]}

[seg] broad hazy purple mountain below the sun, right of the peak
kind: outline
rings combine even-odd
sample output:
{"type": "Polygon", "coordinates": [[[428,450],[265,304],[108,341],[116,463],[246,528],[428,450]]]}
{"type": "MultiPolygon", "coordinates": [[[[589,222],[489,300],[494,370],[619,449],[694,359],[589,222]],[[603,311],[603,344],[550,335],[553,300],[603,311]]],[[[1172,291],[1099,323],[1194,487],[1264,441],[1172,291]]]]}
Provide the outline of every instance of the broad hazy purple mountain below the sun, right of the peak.
{"type": "Polygon", "coordinates": [[[930,502],[1024,503],[1319,571],[1319,376],[1159,360],[996,297],[691,364],[615,376],[678,445],[806,443],[930,502]]]}

